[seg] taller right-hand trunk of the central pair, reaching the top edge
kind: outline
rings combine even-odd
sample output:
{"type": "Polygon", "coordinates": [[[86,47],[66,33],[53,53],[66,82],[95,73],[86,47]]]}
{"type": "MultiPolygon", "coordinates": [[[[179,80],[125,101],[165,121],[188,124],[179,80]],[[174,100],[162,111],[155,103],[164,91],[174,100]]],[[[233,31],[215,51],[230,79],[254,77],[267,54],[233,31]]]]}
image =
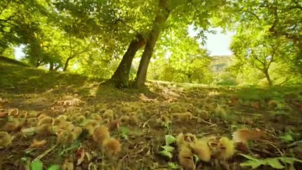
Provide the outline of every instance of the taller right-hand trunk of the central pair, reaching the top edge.
{"type": "Polygon", "coordinates": [[[152,57],[153,49],[160,33],[161,27],[168,19],[170,11],[167,9],[167,0],[159,0],[159,11],[154,19],[154,23],[151,29],[151,33],[148,37],[148,41],[142,55],[139,69],[136,75],[134,86],[139,88],[146,82],[147,70],[152,57]]]}

